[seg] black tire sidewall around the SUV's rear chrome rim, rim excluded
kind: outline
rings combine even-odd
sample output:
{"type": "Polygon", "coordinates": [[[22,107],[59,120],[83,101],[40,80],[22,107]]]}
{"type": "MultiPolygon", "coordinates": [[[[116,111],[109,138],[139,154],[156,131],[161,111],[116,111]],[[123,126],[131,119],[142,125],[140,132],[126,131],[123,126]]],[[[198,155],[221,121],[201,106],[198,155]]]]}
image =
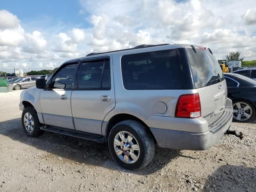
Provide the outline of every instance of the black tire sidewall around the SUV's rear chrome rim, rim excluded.
{"type": "MultiPolygon", "coordinates": [[[[144,128],[144,126],[142,126],[142,129],[144,128]]],[[[144,130],[143,130],[144,131],[144,130]]],[[[152,139],[152,138],[143,138],[143,139],[152,139]]],[[[122,166],[125,169],[128,170],[137,170],[140,168],[143,168],[143,164],[145,163],[145,158],[146,158],[146,143],[142,140],[142,137],[140,136],[140,134],[134,130],[131,126],[125,125],[125,124],[117,124],[116,126],[114,126],[114,128],[112,128],[109,138],[108,138],[108,146],[109,146],[109,150],[110,150],[110,154],[112,155],[114,161],[119,164],[120,166],[122,166]],[[118,132],[120,131],[127,131],[130,132],[138,141],[138,144],[140,146],[140,156],[138,158],[138,160],[132,164],[128,164],[123,162],[116,154],[115,149],[114,149],[114,138],[116,136],[116,134],[118,134],[118,132]]]]}

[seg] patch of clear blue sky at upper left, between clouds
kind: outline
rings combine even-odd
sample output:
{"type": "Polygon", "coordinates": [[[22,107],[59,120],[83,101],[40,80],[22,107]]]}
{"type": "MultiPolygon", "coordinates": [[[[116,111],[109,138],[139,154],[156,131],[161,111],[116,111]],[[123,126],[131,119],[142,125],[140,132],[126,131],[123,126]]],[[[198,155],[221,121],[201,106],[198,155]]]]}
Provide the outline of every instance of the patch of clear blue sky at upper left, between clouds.
{"type": "Polygon", "coordinates": [[[28,32],[60,24],[67,28],[91,25],[85,20],[90,14],[81,13],[80,1],[76,0],[1,0],[0,8],[17,15],[28,32]],[[34,22],[40,25],[32,27],[34,22]]]}

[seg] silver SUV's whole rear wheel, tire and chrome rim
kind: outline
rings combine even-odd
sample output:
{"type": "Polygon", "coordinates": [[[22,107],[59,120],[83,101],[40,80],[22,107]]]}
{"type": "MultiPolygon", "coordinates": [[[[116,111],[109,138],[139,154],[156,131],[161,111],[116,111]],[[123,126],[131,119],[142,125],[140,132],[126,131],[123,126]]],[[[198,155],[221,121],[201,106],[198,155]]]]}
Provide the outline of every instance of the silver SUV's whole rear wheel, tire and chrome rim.
{"type": "Polygon", "coordinates": [[[143,124],[135,120],[116,124],[110,131],[108,146],[115,162],[128,170],[144,168],[152,161],[155,153],[151,134],[143,124]]]}

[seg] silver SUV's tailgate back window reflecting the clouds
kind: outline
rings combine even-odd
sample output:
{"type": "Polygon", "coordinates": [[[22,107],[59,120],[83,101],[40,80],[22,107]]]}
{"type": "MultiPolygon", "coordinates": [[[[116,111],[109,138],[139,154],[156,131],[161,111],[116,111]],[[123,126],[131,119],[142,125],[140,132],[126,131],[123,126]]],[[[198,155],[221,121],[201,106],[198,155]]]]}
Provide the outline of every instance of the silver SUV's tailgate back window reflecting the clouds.
{"type": "Polygon", "coordinates": [[[196,88],[224,80],[218,60],[208,50],[186,48],[196,88]]]}

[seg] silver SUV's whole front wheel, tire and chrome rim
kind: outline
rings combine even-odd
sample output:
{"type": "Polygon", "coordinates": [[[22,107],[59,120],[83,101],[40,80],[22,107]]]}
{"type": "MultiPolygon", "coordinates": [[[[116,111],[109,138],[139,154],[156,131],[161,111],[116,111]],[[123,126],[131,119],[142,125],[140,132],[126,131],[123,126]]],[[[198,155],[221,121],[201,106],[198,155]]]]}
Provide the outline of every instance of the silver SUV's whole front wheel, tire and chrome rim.
{"type": "Polygon", "coordinates": [[[23,130],[27,136],[37,137],[42,133],[39,128],[40,123],[36,114],[36,110],[32,106],[24,108],[21,122],[23,130]]]}

